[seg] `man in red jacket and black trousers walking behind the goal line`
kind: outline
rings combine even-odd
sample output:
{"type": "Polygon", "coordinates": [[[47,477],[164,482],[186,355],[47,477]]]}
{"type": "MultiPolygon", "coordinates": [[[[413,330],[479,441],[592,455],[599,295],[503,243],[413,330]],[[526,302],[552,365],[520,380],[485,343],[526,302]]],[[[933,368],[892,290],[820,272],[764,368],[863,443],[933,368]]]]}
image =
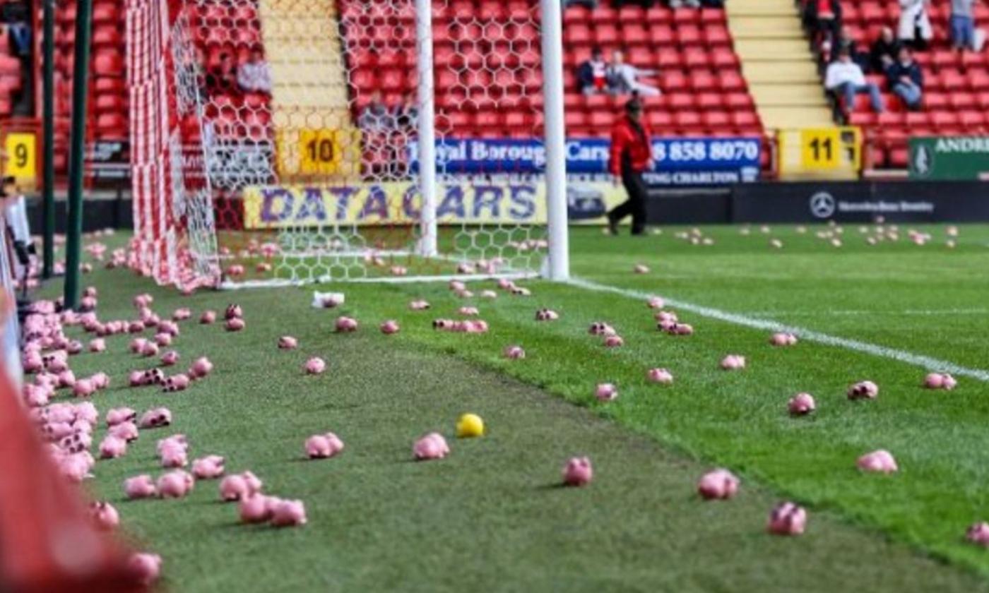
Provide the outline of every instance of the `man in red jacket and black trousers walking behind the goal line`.
{"type": "Polygon", "coordinates": [[[653,166],[653,148],[638,97],[625,104],[625,117],[611,128],[611,160],[608,165],[615,184],[620,177],[628,192],[628,200],[608,212],[608,231],[618,234],[618,222],[632,214],[632,234],[643,234],[646,231],[649,187],[642,173],[653,166]]]}

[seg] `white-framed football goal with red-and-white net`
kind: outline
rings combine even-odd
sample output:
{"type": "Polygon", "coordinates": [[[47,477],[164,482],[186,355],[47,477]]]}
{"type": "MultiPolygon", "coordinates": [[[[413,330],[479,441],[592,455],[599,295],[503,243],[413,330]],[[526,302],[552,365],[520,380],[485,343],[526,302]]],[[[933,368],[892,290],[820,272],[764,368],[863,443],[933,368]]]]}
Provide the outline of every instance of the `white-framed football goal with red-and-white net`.
{"type": "Polygon", "coordinates": [[[567,277],[559,0],[127,14],[141,273],[187,290],[567,277]]]}

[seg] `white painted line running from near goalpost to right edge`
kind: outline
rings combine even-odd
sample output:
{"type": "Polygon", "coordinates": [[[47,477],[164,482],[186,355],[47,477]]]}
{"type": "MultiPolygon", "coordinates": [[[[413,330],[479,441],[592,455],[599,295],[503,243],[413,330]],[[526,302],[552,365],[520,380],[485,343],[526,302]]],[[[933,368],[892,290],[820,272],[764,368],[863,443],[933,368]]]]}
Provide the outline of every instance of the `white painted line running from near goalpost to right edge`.
{"type": "MultiPolygon", "coordinates": [[[[639,291],[632,291],[628,289],[611,287],[608,285],[601,285],[580,278],[572,278],[568,282],[571,286],[575,286],[588,291],[595,291],[598,293],[611,293],[613,295],[627,296],[629,298],[637,298],[641,300],[645,300],[650,296],[656,296],[647,293],[642,293],[639,291]]],[[[936,359],[930,356],[914,354],[912,352],[907,352],[905,350],[896,350],[895,348],[886,348],[885,346],[876,346],[875,344],[869,344],[867,342],[859,342],[858,340],[840,338],[838,336],[828,335],[818,331],[805,329],[803,327],[785,325],[783,323],[779,323],[778,321],[772,321],[770,319],[759,319],[756,317],[749,317],[738,313],[730,313],[728,311],[723,311],[721,309],[711,308],[699,304],[693,304],[691,302],[684,302],[682,300],[676,300],[674,298],[666,298],[665,296],[663,297],[663,299],[666,301],[668,305],[676,309],[689,311],[691,313],[696,313],[704,317],[711,317],[713,319],[727,321],[728,323],[735,323],[736,325],[744,325],[746,327],[752,327],[755,329],[763,329],[765,331],[788,332],[788,333],[796,334],[801,339],[810,340],[812,342],[818,342],[821,344],[825,344],[827,346],[837,346],[839,348],[854,350],[856,352],[863,352],[865,354],[870,354],[872,356],[877,356],[880,358],[892,359],[894,361],[906,363],[908,365],[923,367],[929,371],[950,373],[951,375],[956,375],[959,377],[970,377],[972,379],[977,379],[979,381],[989,382],[989,371],[983,371],[981,369],[969,369],[967,367],[962,367],[960,365],[956,365],[954,363],[936,359]]]]}

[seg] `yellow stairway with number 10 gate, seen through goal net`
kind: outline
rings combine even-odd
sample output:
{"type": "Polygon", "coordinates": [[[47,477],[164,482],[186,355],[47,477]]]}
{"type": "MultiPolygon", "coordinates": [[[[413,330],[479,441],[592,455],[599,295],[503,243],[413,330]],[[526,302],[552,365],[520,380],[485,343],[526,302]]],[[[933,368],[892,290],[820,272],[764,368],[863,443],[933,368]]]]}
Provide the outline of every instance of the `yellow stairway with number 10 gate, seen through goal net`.
{"type": "Polygon", "coordinates": [[[356,174],[360,139],[348,106],[335,2],[259,0],[258,12],[271,70],[272,124],[277,130],[282,181],[303,182],[312,174],[327,172],[327,167],[341,177],[356,174]],[[334,129],[340,131],[330,131],[334,129]],[[329,137],[334,145],[332,164],[306,158],[310,142],[329,137]]]}

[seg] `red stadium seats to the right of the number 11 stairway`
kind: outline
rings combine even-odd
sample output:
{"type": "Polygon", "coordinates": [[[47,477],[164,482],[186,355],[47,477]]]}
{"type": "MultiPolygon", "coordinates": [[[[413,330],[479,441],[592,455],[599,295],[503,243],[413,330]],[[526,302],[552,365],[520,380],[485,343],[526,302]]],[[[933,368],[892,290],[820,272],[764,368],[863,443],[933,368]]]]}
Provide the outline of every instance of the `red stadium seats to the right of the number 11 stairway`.
{"type": "MultiPolygon", "coordinates": [[[[868,47],[882,27],[895,31],[900,7],[896,2],[862,0],[842,2],[843,24],[860,47],[868,47]]],[[[883,91],[886,112],[869,109],[868,97],[859,95],[848,123],[865,131],[866,168],[905,169],[910,135],[984,133],[989,110],[989,56],[984,51],[957,52],[950,47],[948,18],[950,4],[934,3],[928,8],[934,39],[929,49],[915,52],[925,76],[924,109],[908,111],[890,91],[881,73],[867,76],[883,91]]],[[[976,27],[989,27],[989,7],[975,4],[976,27]]],[[[842,106],[844,108],[844,106],[842,106]]]]}

